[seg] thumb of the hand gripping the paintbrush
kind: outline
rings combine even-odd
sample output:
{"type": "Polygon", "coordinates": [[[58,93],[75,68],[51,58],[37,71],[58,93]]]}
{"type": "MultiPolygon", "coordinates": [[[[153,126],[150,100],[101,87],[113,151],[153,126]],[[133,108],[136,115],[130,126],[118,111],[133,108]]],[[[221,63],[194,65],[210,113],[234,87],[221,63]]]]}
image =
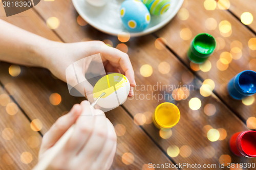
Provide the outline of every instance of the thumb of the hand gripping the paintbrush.
{"type": "Polygon", "coordinates": [[[44,153],[59,140],[59,138],[76,122],[81,111],[81,106],[76,104],[68,114],[57,119],[50,130],[42,138],[40,153],[44,153]]]}

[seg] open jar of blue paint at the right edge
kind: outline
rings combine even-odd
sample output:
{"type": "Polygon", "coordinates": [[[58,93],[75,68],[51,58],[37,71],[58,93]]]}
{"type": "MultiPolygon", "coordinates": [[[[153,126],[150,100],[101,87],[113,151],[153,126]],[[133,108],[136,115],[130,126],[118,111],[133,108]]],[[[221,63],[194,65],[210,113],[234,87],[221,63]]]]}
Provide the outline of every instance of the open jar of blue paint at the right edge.
{"type": "Polygon", "coordinates": [[[228,92],[234,99],[241,100],[256,93],[256,72],[245,70],[233,77],[228,83],[228,92]]]}

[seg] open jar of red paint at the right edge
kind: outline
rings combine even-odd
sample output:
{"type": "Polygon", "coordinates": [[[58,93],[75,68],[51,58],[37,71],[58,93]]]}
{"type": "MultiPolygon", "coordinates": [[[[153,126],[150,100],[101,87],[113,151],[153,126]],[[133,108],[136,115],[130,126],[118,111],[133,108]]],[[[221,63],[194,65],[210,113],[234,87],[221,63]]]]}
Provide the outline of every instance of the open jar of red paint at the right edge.
{"type": "Polygon", "coordinates": [[[256,131],[243,131],[233,134],[229,146],[237,156],[256,157],[256,131]]]}

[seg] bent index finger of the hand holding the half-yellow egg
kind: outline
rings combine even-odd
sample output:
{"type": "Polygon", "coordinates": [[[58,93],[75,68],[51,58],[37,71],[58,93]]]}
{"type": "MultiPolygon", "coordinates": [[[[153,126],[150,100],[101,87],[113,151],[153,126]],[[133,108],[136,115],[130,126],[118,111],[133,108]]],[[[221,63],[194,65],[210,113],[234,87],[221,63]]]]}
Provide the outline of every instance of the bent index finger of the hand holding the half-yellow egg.
{"type": "Polygon", "coordinates": [[[134,70],[129,56],[116,48],[105,45],[100,52],[107,60],[120,64],[120,67],[125,72],[125,76],[129,79],[131,87],[136,86],[134,70]]]}

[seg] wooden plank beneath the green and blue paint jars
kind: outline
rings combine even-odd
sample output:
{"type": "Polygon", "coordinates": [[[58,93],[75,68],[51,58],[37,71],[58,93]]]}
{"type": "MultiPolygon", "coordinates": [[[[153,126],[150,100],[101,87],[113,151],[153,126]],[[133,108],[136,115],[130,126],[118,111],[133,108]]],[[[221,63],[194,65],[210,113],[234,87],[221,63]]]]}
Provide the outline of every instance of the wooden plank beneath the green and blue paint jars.
{"type": "MultiPolygon", "coordinates": [[[[228,30],[222,28],[223,32],[228,30]]],[[[220,96],[221,100],[223,100],[233,112],[246,122],[249,117],[256,116],[255,102],[254,104],[252,103],[249,106],[246,106],[242,101],[232,99],[227,92],[227,83],[232,77],[243,70],[251,69],[256,71],[256,66],[254,65],[256,61],[256,51],[253,51],[248,47],[248,41],[251,38],[255,38],[255,35],[252,32],[250,32],[228,11],[219,9],[206,10],[204,8],[204,1],[193,0],[185,1],[182,10],[178,13],[178,17],[175,17],[166,27],[155,34],[157,37],[163,37],[166,40],[168,47],[177,54],[182,62],[188,67],[191,67],[190,61],[186,56],[187,49],[190,41],[197,34],[202,32],[207,32],[213,35],[219,41],[219,44],[217,45],[216,52],[209,58],[208,62],[201,67],[201,70],[198,70],[198,66],[193,67],[194,70],[198,70],[195,71],[195,74],[203,80],[213,80],[215,82],[214,90],[218,96],[220,96]],[[187,19],[181,20],[180,18],[187,19]],[[229,35],[229,33],[224,34],[220,31],[220,26],[222,26],[220,24],[223,23],[222,21],[228,21],[230,23],[231,31],[229,33],[231,33],[231,35],[229,35]],[[207,28],[212,30],[208,30],[207,28]],[[232,51],[233,47],[237,48],[232,51]],[[242,48],[240,49],[242,50],[241,52],[239,48],[242,48]],[[225,56],[225,54],[228,53],[232,55],[233,59],[227,55],[225,56]],[[228,60],[230,59],[231,62],[229,64],[222,64],[219,60],[221,55],[228,58],[228,60]]],[[[252,96],[249,99],[249,102],[245,101],[244,103],[248,104],[250,101],[254,100],[255,96],[252,96]]]]}

